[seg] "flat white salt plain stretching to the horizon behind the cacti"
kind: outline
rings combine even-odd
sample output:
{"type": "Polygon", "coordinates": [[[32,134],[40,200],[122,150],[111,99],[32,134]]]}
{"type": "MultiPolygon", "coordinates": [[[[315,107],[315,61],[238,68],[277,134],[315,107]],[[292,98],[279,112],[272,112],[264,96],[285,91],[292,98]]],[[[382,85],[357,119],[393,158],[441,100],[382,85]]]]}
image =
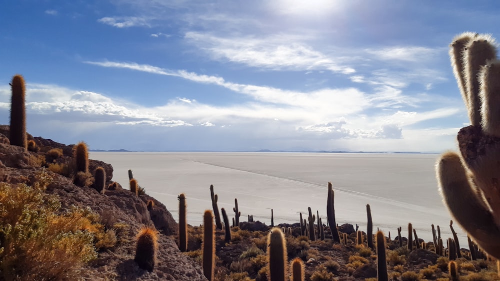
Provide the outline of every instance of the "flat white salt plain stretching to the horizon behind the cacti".
{"type": "MultiPolygon", "coordinates": [[[[199,225],[211,209],[209,186],[218,194],[218,207],[234,216],[238,199],[241,221],[270,224],[299,222],[307,207],[319,211],[326,223],[327,183],[334,189],[337,224],[366,230],[366,204],[373,228],[391,237],[411,223],[419,238],[432,241],[431,224],[441,236],[452,237],[450,215],[437,190],[434,164],[437,154],[357,153],[223,153],[223,152],[91,152],[90,158],[113,166],[113,180],[128,188],[128,169],[146,193],[162,202],[178,220],[177,195],[186,194],[187,222],[199,225]]],[[[229,221],[231,218],[229,218],[229,221]]],[[[466,236],[454,223],[460,247],[466,236]]]]}

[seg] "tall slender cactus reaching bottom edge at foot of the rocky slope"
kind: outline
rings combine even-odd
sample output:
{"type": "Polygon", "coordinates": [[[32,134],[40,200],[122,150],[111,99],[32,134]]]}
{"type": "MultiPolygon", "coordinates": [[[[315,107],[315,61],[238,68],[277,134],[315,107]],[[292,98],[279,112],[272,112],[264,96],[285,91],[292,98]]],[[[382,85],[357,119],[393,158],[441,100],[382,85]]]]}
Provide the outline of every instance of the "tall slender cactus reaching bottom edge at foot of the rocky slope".
{"type": "Polygon", "coordinates": [[[213,216],[210,210],[203,214],[203,275],[208,281],[213,280],[215,260],[215,235],[213,216]]]}

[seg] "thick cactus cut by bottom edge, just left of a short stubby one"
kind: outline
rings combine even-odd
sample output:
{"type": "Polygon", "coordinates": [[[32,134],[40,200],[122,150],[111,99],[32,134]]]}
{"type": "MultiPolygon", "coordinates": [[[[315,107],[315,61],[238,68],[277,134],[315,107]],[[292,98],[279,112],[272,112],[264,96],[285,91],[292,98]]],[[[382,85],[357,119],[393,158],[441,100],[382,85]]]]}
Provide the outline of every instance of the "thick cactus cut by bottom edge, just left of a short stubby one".
{"type": "Polygon", "coordinates": [[[269,281],[285,281],[287,275],[286,241],[275,227],[267,235],[267,277],[269,281]]]}

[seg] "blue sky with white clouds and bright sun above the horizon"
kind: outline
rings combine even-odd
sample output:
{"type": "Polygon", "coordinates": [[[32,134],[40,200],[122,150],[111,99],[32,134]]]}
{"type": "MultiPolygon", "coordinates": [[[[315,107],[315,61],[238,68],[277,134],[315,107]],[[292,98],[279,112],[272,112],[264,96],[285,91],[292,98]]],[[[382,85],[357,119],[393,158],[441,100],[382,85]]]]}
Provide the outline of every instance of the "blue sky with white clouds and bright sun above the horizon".
{"type": "Polygon", "coordinates": [[[2,3],[27,130],[91,149],[454,149],[468,124],[448,58],[500,34],[495,1],[96,0],[2,3]]]}

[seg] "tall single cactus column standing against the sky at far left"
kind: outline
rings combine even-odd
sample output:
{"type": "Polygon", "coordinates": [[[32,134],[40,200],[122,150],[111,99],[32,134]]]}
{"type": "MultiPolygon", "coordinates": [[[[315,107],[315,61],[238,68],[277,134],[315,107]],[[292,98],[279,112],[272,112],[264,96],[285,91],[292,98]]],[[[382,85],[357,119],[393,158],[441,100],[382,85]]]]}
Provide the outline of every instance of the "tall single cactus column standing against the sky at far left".
{"type": "Polygon", "coordinates": [[[9,141],[11,145],[26,149],[26,108],[24,100],[26,86],[24,78],[20,74],[14,75],[10,86],[12,96],[10,98],[9,141]]]}

